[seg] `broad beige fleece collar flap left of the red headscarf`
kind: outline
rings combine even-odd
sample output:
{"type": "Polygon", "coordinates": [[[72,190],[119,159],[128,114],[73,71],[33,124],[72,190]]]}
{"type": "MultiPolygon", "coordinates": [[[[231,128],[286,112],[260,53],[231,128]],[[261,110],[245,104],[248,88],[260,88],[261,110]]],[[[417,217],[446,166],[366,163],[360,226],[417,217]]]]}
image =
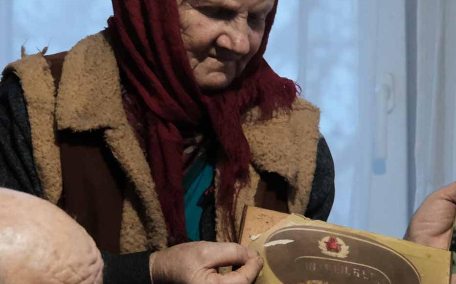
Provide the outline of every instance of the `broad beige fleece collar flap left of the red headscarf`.
{"type": "Polygon", "coordinates": [[[59,129],[117,128],[123,122],[114,51],[100,32],[80,41],[65,58],[57,98],[59,129]]]}

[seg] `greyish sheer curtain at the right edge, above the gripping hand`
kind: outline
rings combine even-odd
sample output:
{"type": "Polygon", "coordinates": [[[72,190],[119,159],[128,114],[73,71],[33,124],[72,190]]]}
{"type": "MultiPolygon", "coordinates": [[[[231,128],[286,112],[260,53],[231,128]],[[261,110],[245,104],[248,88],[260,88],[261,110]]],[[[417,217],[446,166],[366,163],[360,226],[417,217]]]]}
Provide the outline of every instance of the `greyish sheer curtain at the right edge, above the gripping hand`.
{"type": "Polygon", "coordinates": [[[418,0],[415,208],[456,181],[456,1],[418,0]]]}

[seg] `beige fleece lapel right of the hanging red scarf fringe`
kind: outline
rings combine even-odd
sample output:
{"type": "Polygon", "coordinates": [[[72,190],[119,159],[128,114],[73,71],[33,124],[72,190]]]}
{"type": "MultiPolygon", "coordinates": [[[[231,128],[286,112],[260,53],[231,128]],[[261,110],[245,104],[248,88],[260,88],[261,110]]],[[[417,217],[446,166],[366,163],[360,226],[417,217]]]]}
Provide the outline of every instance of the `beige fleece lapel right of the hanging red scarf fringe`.
{"type": "Polygon", "coordinates": [[[290,185],[290,213],[304,213],[314,179],[319,142],[319,109],[298,98],[291,114],[258,120],[258,110],[246,116],[244,133],[251,161],[258,171],[275,172],[290,185]]]}

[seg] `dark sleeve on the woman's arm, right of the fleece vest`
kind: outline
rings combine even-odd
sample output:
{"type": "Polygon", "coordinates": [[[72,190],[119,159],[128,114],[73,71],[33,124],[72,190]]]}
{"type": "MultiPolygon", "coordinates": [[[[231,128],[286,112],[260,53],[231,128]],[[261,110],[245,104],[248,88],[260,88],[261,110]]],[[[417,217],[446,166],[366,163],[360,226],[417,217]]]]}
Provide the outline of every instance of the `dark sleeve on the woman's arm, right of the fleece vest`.
{"type": "Polygon", "coordinates": [[[317,165],[305,215],[326,221],[334,202],[334,162],[326,140],[321,137],[317,146],[317,165]]]}

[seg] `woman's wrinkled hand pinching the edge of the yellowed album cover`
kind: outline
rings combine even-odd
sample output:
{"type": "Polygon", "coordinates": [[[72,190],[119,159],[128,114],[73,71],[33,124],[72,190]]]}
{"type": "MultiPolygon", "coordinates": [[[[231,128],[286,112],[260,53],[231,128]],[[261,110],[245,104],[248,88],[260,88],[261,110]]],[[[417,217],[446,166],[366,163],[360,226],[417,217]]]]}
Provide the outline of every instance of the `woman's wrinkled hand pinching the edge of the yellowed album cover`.
{"type": "Polygon", "coordinates": [[[235,243],[190,242],[151,255],[153,284],[250,284],[263,267],[258,253],[235,243]],[[242,265],[228,274],[218,267],[242,265]]]}

